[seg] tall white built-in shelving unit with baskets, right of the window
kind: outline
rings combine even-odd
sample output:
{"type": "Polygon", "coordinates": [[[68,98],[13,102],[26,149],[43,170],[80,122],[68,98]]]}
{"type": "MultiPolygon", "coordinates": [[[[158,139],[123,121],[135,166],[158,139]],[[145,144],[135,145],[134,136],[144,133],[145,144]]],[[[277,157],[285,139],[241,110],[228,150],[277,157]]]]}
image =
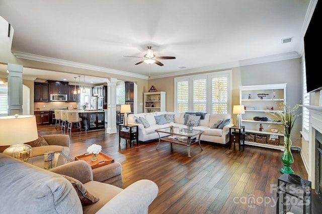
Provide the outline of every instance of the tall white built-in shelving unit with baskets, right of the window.
{"type": "Polygon", "coordinates": [[[268,113],[280,110],[286,102],[286,84],[239,87],[239,103],[244,105],[241,125],[245,126],[245,144],[284,151],[284,129],[268,113]],[[260,128],[260,126],[263,127],[260,128]],[[276,128],[278,132],[272,132],[276,128]]]}

